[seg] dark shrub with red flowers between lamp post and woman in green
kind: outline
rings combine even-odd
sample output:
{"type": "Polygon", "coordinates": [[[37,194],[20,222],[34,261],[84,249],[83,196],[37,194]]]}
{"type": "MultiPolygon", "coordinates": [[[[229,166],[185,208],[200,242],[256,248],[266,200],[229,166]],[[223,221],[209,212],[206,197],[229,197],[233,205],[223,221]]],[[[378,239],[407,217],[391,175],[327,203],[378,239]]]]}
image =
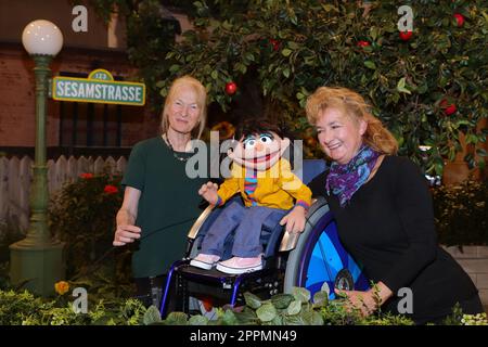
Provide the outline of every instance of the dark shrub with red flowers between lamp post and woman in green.
{"type": "Polygon", "coordinates": [[[52,198],[53,235],[65,242],[66,277],[92,292],[120,295],[131,281],[130,250],[112,245],[121,206],[119,176],[82,174],[52,198]]]}

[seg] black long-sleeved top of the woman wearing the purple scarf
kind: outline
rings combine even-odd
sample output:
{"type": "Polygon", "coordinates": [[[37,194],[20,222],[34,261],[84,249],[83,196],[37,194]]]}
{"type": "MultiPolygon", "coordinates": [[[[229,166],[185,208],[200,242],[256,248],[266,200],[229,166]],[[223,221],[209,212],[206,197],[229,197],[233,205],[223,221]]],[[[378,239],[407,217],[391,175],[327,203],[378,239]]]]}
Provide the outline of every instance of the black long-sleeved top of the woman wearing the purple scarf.
{"type": "MultiPolygon", "coordinates": [[[[410,159],[385,156],[344,208],[337,196],[326,194],[325,178],[321,174],[309,188],[328,200],[345,248],[373,282],[382,281],[395,294],[412,290],[413,319],[448,314],[457,301],[476,295],[470,277],[437,245],[426,180],[410,159]]],[[[383,309],[397,313],[399,299],[394,295],[383,309]]]]}

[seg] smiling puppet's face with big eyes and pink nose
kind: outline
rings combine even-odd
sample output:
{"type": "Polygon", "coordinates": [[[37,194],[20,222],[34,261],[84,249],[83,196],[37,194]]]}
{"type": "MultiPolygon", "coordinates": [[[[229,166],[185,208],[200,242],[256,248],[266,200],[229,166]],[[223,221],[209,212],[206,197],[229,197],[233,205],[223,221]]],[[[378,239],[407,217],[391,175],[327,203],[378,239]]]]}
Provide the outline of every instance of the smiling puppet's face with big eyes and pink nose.
{"type": "Polygon", "coordinates": [[[288,139],[282,139],[273,131],[254,133],[242,138],[229,157],[246,168],[265,171],[282,156],[290,145],[288,139]]]}

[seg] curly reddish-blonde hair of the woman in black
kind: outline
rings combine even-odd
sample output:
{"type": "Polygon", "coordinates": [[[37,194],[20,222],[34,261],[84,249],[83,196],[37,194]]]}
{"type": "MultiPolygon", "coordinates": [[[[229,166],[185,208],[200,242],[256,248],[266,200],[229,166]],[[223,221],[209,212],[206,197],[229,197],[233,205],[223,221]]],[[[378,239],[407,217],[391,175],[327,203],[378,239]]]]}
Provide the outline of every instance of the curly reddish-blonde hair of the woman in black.
{"type": "Polygon", "coordinates": [[[341,87],[320,87],[308,97],[306,113],[308,121],[317,125],[321,114],[329,107],[337,108],[344,114],[359,121],[363,119],[368,128],[363,134],[363,141],[374,151],[393,155],[398,151],[398,142],[382,121],[373,116],[370,105],[357,92],[341,87]]]}

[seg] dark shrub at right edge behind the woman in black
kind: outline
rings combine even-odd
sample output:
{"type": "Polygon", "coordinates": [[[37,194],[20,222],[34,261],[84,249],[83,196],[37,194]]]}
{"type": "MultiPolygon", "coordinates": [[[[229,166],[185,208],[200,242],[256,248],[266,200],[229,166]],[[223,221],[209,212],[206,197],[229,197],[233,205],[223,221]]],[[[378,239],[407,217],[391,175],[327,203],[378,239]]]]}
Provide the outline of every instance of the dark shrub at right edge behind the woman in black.
{"type": "Polygon", "coordinates": [[[439,243],[488,244],[488,184],[466,180],[433,189],[434,215],[439,243]]]}

